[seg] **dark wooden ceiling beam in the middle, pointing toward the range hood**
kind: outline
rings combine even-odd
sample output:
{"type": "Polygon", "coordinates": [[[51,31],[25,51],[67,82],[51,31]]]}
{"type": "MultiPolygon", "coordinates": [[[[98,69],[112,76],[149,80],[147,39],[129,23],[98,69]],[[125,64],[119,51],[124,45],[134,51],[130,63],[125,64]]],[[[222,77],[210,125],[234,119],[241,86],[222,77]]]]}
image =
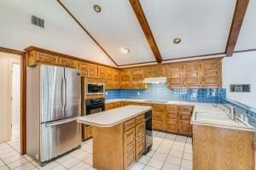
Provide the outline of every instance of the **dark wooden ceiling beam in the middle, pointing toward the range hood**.
{"type": "Polygon", "coordinates": [[[143,32],[144,32],[145,36],[147,37],[148,44],[154,54],[156,61],[158,63],[161,63],[162,58],[160,55],[160,51],[157,47],[156,42],[154,41],[154,36],[153,36],[152,31],[148,25],[148,20],[146,19],[146,16],[143,12],[141,3],[139,2],[139,0],[130,0],[130,3],[131,3],[131,7],[133,8],[134,13],[137,16],[137,20],[139,21],[139,23],[143,29],[143,32]]]}

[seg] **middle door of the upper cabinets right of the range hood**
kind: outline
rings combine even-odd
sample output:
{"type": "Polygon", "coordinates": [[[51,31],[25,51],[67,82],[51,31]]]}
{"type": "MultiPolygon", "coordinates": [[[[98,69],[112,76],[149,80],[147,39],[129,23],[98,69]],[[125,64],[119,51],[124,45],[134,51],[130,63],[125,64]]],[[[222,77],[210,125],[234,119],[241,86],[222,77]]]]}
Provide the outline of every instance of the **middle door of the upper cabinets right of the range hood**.
{"type": "Polygon", "coordinates": [[[183,86],[186,88],[200,88],[200,63],[188,62],[183,64],[183,86]]]}

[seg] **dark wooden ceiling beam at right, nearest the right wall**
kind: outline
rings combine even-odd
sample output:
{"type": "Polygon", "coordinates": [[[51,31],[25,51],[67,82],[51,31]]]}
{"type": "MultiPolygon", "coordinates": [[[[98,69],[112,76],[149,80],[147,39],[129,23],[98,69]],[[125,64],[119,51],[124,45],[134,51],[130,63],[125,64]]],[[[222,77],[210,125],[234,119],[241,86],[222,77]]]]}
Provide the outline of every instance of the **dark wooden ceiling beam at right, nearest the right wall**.
{"type": "Polygon", "coordinates": [[[236,42],[239,36],[239,32],[241,30],[242,21],[244,20],[245,14],[247,12],[248,3],[249,3],[249,0],[236,1],[236,9],[235,9],[234,17],[232,20],[230,37],[229,37],[227,48],[226,48],[227,57],[232,56],[236,48],[236,42]]]}

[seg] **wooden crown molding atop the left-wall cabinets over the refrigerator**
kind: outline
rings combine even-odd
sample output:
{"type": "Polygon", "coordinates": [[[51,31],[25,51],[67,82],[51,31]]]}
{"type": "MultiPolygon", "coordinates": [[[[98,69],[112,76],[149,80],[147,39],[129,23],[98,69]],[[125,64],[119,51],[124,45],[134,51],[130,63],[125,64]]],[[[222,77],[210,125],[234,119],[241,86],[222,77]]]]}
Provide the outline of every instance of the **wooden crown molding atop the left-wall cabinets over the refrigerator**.
{"type": "Polygon", "coordinates": [[[61,54],[61,53],[58,53],[58,52],[55,52],[55,51],[51,51],[49,49],[44,49],[44,48],[38,48],[38,47],[34,47],[34,46],[30,46],[28,48],[25,48],[24,50],[25,51],[29,51],[29,50],[32,50],[32,49],[35,49],[37,51],[40,51],[40,52],[44,52],[44,53],[48,53],[48,54],[53,54],[53,55],[58,55],[58,56],[61,56],[61,57],[66,57],[66,58],[69,58],[69,59],[76,59],[76,60],[79,60],[79,61],[83,61],[83,62],[87,62],[87,63],[92,63],[92,64],[96,64],[96,65],[102,65],[102,66],[107,66],[107,67],[110,67],[110,68],[117,68],[115,66],[111,66],[111,65],[104,65],[102,63],[97,63],[95,61],[90,61],[88,59],[81,59],[79,57],[74,57],[72,55],[68,55],[68,54],[61,54]]]}

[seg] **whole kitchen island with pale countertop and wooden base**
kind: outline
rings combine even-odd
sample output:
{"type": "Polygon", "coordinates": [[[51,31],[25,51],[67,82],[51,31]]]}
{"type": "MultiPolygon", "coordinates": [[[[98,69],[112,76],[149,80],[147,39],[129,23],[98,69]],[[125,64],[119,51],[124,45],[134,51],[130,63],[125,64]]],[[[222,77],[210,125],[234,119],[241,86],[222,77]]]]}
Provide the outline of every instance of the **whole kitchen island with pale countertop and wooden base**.
{"type": "Polygon", "coordinates": [[[150,106],[127,105],[81,116],[78,122],[93,126],[93,167],[127,169],[145,149],[144,114],[150,106]]]}

